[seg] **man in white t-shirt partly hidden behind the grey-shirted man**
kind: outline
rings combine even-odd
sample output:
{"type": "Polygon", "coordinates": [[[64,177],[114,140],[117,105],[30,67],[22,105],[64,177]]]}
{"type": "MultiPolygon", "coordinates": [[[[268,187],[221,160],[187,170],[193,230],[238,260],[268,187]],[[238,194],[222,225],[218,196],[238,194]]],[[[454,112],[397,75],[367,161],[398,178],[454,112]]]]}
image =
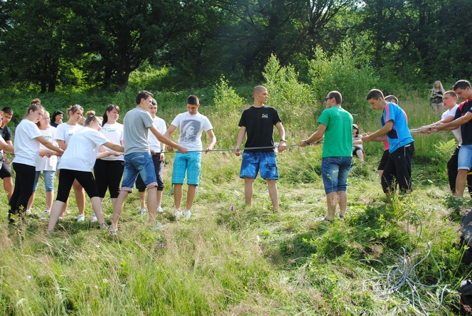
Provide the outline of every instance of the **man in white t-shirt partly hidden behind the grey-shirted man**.
{"type": "MultiPolygon", "coordinates": [[[[164,134],[167,130],[166,121],[162,120],[161,117],[156,116],[157,112],[157,102],[156,100],[152,99],[152,105],[149,107],[148,110],[149,114],[152,117],[152,121],[154,122],[154,126],[156,126],[157,130],[161,134],[164,134]]],[[[157,180],[157,212],[163,213],[163,209],[161,206],[162,202],[162,191],[165,187],[163,182],[163,175],[164,175],[164,144],[159,141],[150,131],[148,136],[149,148],[151,149],[152,154],[152,161],[154,162],[154,171],[156,172],[156,180],[157,180]]],[[[144,185],[143,179],[141,176],[138,176],[136,179],[136,189],[139,191],[139,199],[141,200],[141,210],[139,213],[144,214],[146,213],[146,186],[144,185]]]]}

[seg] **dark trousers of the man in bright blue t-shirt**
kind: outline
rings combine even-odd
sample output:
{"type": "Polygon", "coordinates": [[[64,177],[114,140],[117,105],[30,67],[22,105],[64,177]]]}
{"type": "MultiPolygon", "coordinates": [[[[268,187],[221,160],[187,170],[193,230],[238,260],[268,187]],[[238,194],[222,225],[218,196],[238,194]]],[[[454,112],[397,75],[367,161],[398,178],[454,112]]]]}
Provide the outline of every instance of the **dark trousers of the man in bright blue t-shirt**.
{"type": "Polygon", "coordinates": [[[395,181],[403,193],[412,191],[413,153],[414,142],[399,147],[395,152],[390,153],[382,174],[382,189],[385,193],[394,191],[395,181]]]}

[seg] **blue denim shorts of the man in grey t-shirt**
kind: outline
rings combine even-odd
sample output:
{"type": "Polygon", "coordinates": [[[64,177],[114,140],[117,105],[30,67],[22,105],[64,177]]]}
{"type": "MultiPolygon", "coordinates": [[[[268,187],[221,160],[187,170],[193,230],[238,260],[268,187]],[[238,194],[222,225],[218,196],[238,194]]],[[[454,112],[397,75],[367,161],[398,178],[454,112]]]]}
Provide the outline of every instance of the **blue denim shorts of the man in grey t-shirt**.
{"type": "Polygon", "coordinates": [[[124,173],[120,190],[132,192],[138,174],[143,179],[147,189],[157,186],[151,153],[133,152],[124,156],[124,173]]]}

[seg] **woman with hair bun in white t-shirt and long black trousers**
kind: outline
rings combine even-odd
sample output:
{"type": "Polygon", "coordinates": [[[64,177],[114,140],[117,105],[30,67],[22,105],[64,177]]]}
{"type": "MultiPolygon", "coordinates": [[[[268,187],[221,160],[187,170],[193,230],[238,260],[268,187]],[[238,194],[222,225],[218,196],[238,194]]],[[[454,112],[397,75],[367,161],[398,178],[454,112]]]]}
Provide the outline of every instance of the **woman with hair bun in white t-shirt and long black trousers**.
{"type": "Polygon", "coordinates": [[[19,216],[24,221],[28,199],[33,193],[34,178],[36,176],[36,157],[39,154],[63,153],[63,149],[54,146],[41,134],[36,123],[43,117],[44,109],[38,103],[28,107],[28,112],[15,130],[14,149],[15,158],[15,189],[9,201],[9,222],[15,223],[19,216]],[[47,149],[40,149],[43,144],[47,149]]]}

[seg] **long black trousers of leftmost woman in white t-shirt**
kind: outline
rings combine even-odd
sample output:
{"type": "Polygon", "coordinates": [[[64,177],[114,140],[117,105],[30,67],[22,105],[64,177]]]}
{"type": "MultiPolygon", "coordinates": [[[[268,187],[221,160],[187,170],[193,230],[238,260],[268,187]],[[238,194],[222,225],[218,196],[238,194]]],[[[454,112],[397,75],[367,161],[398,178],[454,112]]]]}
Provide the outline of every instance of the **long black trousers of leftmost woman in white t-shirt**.
{"type": "Polygon", "coordinates": [[[26,205],[33,194],[34,178],[36,177],[36,167],[28,164],[18,164],[14,162],[15,189],[9,201],[9,223],[15,223],[15,217],[24,221],[26,205]]]}

